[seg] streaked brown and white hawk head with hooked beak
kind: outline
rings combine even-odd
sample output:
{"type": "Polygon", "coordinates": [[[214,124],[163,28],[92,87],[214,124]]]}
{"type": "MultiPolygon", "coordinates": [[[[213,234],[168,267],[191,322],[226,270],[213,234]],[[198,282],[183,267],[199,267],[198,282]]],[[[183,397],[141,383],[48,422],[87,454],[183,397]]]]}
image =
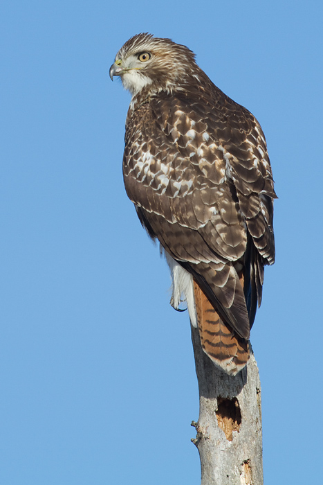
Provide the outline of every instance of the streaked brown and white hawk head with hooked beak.
{"type": "Polygon", "coordinates": [[[201,72],[189,48],[171,39],[148,33],[131,37],[120,48],[110,68],[110,77],[120,76],[122,85],[136,96],[144,87],[149,91],[172,91],[201,72]]]}

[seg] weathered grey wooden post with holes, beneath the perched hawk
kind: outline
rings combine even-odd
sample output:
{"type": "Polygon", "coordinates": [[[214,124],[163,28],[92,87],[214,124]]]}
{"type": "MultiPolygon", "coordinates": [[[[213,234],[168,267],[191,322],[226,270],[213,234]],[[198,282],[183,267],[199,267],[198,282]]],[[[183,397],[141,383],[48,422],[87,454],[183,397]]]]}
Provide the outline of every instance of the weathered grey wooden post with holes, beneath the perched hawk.
{"type": "Polygon", "coordinates": [[[201,485],[263,485],[261,388],[255,356],[237,376],[216,367],[192,327],[200,414],[193,443],[201,485]]]}

